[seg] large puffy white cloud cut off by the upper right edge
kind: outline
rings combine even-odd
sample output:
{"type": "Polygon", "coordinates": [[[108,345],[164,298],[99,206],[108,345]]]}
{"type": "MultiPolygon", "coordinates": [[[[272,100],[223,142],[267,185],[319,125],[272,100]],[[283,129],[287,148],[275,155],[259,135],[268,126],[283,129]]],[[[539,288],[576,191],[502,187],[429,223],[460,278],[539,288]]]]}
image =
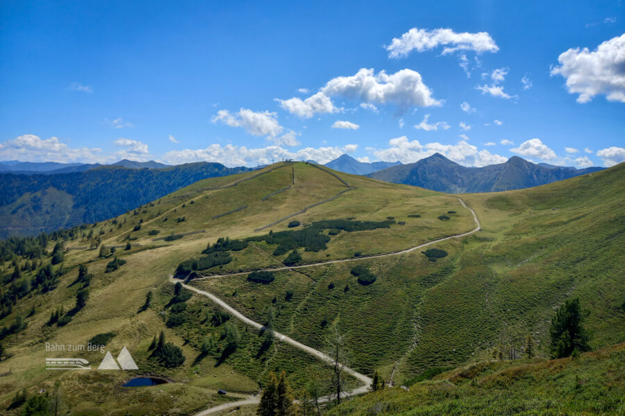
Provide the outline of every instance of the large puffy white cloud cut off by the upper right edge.
{"type": "Polygon", "coordinates": [[[587,103],[603,94],[608,101],[625,103],[625,33],[601,43],[597,49],[574,48],[560,53],[559,66],[551,75],[566,79],[570,94],[579,94],[578,103],[587,103]]]}

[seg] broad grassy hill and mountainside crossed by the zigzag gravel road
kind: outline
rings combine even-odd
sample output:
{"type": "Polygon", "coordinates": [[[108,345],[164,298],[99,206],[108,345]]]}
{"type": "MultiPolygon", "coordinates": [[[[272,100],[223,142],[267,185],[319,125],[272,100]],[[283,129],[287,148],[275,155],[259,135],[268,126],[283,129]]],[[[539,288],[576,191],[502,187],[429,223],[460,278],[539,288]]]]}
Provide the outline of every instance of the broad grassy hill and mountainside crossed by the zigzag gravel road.
{"type": "MultiPolygon", "coordinates": [[[[286,370],[296,391],[310,379],[324,383],[329,369],[313,356],[285,343],[266,345],[258,330],[221,315],[207,297],[184,299],[184,291],[176,297],[169,275],[184,261],[206,266],[208,258],[220,259],[219,264],[196,267],[190,284],[256,322],[266,323],[272,310],[276,331],[322,351],[336,326],[344,334],[351,367],[369,375],[378,371],[396,385],[432,367],[487,361],[499,345],[522,355],[528,334],[539,355],[547,357],[549,319],[569,297],[579,297],[587,309],[594,348],[622,342],[624,170],[615,166],[543,187],[461,195],[482,229],[432,245],[447,254],[438,259],[422,250],[367,257],[474,229],[472,214],[456,196],[303,163],[201,180],[121,216],[72,229],[64,234],[69,250],[63,262],[52,266],[59,273],[56,287],[16,295],[12,310],[0,320],[0,327],[9,327],[21,315],[27,324],[0,340],[8,352],[0,361],[0,409],[10,408],[23,389],[31,395],[42,388],[52,392],[55,383],[64,409],[93,415],[192,414],[235,399],[218,396],[219,388],[255,392],[269,370],[286,370]],[[302,214],[255,231],[306,207],[302,214]],[[221,237],[238,244],[237,250],[218,250],[225,247],[215,245],[221,237]],[[278,238],[288,250],[278,250],[278,238]],[[126,263],[106,272],[112,246],[126,263]],[[356,260],[314,266],[340,259],[356,260]],[[251,270],[285,263],[312,266],[275,272],[267,284],[247,278],[251,270]],[[48,324],[60,305],[65,311],[74,307],[81,264],[93,275],[86,306],[65,325],[48,324]],[[356,265],[365,266],[375,281],[359,283],[356,265]],[[149,291],[151,304],[142,308],[149,291]],[[165,367],[150,358],[150,344],[161,330],[167,342],[181,347],[183,365],[165,367]],[[233,349],[228,348],[232,331],[238,332],[233,349]],[[45,343],[80,344],[111,332],[115,336],[106,349],[117,356],[125,345],[139,371],[44,370],[44,358],[59,356],[46,352],[45,343]],[[205,342],[212,346],[202,352],[205,342]],[[122,388],[133,374],[164,376],[174,383],[122,388]]],[[[17,279],[12,278],[12,259],[5,259],[2,293],[17,291],[26,279],[30,285],[51,263],[57,242],[47,243],[41,264],[17,279]]],[[[32,259],[17,259],[20,268],[27,261],[32,259]]],[[[102,358],[99,352],[78,356],[94,367],[102,358]]],[[[355,379],[347,383],[358,384],[355,379]]],[[[345,409],[338,414],[351,411],[345,409]]]]}

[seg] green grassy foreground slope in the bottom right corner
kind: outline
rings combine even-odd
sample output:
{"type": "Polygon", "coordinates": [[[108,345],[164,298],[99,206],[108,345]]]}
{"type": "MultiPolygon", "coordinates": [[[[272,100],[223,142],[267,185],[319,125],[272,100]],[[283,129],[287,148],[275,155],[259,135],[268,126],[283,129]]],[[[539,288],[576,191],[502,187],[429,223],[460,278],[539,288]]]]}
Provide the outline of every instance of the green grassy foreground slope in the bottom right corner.
{"type": "Polygon", "coordinates": [[[388,388],[332,408],[334,415],[619,415],[625,344],[576,359],[482,362],[432,381],[388,388]]]}

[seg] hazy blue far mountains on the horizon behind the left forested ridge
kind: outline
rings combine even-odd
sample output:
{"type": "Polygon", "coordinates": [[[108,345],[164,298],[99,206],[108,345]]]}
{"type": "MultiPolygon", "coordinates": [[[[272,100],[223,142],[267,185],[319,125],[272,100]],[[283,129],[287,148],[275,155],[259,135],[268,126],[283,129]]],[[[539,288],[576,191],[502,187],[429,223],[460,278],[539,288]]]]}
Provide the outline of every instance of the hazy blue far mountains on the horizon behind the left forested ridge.
{"type": "Polygon", "coordinates": [[[43,175],[54,175],[56,173],[72,173],[84,172],[98,166],[124,166],[124,168],[132,169],[160,169],[167,168],[170,165],[154,162],[135,162],[133,160],[122,159],[119,162],[102,165],[99,163],[58,163],[58,162],[20,162],[19,160],[7,160],[0,162],[0,172],[21,173],[24,175],[32,175],[33,173],[41,173],[43,175]]]}

